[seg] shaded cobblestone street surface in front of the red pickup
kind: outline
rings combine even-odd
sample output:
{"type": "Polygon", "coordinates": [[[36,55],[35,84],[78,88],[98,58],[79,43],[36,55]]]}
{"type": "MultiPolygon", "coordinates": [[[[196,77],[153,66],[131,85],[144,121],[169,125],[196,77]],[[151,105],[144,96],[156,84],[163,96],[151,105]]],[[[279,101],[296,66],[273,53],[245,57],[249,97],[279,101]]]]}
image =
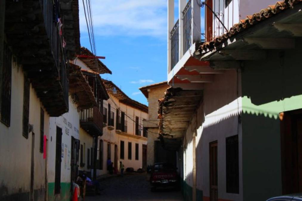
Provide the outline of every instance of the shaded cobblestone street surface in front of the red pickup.
{"type": "Polygon", "coordinates": [[[151,192],[148,174],[128,174],[124,177],[111,177],[100,182],[101,195],[86,196],[86,201],[182,201],[181,191],[161,189],[151,192]]]}

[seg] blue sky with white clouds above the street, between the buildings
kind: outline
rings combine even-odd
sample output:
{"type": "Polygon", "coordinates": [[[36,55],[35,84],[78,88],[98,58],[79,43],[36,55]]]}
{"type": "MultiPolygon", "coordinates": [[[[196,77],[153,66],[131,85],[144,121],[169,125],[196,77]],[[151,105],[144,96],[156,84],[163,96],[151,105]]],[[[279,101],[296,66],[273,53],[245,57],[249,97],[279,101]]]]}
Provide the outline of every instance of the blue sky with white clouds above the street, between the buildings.
{"type": "MultiPolygon", "coordinates": [[[[138,88],[167,80],[167,1],[91,0],[96,55],[130,98],[148,105],[138,88]]],[[[175,21],[178,12],[175,1],[175,21]]],[[[90,48],[82,1],[81,46],[90,48]]]]}

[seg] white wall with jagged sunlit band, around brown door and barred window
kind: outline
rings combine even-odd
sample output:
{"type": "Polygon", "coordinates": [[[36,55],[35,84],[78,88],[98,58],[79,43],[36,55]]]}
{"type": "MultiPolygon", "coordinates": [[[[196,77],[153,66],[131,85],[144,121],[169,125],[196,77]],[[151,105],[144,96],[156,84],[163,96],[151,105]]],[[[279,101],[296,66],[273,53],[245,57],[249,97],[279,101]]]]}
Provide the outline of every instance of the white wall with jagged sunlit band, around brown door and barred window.
{"type": "MultiPolygon", "coordinates": [[[[241,75],[238,75],[239,96],[241,95],[241,75]]],[[[203,196],[210,197],[209,143],[218,142],[218,198],[243,200],[242,193],[242,129],[239,124],[239,194],[226,193],[226,137],[237,134],[238,114],[242,111],[241,97],[237,99],[237,74],[227,70],[215,75],[213,83],[204,88],[204,101],[192,116],[183,143],[184,181],[193,187],[193,140],[196,136],[196,188],[203,196]],[[196,117],[197,116],[197,120],[196,117]],[[202,124],[202,125],[201,125],[202,124]],[[195,130],[196,128],[196,130],[195,130]]],[[[180,157],[179,157],[180,158],[180,157]]],[[[178,164],[178,166],[181,166],[178,164]]]]}

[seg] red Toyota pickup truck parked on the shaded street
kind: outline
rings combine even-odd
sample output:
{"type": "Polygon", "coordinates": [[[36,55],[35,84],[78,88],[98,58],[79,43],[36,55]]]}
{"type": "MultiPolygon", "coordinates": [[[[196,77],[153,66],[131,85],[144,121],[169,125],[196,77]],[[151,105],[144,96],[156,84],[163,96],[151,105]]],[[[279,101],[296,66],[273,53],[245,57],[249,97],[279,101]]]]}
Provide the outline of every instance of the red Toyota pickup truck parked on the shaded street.
{"type": "Polygon", "coordinates": [[[169,163],[155,163],[150,175],[151,191],[155,191],[157,187],[174,187],[178,190],[179,177],[176,169],[169,163]]]}

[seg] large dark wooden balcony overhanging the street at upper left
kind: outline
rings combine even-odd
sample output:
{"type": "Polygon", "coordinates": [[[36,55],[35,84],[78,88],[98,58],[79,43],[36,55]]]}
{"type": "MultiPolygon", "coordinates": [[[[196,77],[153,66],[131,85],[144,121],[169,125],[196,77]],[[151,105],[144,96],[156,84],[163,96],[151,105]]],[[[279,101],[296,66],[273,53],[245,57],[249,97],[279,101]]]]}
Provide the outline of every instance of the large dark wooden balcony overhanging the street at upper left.
{"type": "Polygon", "coordinates": [[[65,43],[66,33],[73,35],[72,38],[76,34],[68,27],[66,33],[63,29],[66,14],[75,14],[73,11],[76,12],[76,9],[64,6],[63,10],[60,7],[63,2],[63,5],[66,2],[73,4],[73,0],[60,2],[23,0],[6,1],[5,5],[7,44],[15,61],[23,66],[24,73],[30,78],[37,96],[50,116],[60,116],[68,111],[66,65],[71,57],[67,57],[67,52],[72,55],[70,46],[77,45],[71,41],[68,41],[69,44],[65,43]]]}

